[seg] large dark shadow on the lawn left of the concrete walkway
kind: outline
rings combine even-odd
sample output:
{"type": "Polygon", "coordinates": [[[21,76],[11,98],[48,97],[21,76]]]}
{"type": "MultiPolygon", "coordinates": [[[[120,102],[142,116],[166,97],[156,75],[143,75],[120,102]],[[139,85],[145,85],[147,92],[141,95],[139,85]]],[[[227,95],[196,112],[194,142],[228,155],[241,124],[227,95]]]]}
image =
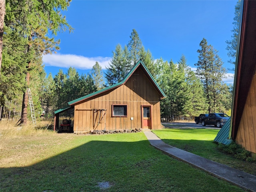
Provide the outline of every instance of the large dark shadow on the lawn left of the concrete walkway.
{"type": "Polygon", "coordinates": [[[26,167],[1,168],[1,191],[243,191],[138,142],[90,141],[26,167]],[[100,188],[109,182],[109,188],[100,188]],[[209,190],[210,189],[210,190],[209,190]]]}

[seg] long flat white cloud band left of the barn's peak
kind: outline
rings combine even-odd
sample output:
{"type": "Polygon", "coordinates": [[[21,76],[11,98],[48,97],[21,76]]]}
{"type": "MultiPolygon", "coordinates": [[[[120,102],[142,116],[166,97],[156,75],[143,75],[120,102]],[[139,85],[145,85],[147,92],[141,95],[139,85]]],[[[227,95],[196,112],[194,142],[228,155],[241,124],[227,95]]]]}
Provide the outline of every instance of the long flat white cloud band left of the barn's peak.
{"type": "Polygon", "coordinates": [[[74,67],[76,69],[92,69],[96,61],[102,69],[106,69],[110,62],[110,57],[84,57],[72,54],[47,54],[43,56],[45,66],[55,66],[62,68],[74,67]]]}

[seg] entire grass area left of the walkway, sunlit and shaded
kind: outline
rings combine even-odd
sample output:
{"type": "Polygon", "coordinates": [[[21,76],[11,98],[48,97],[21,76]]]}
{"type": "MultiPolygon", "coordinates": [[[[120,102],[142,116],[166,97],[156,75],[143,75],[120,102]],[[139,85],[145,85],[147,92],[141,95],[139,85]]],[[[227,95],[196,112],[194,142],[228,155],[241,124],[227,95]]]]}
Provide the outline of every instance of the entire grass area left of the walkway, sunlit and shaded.
{"type": "Polygon", "coordinates": [[[0,147],[3,192],[244,191],[156,150],[143,132],[56,134],[1,122],[0,147]]]}

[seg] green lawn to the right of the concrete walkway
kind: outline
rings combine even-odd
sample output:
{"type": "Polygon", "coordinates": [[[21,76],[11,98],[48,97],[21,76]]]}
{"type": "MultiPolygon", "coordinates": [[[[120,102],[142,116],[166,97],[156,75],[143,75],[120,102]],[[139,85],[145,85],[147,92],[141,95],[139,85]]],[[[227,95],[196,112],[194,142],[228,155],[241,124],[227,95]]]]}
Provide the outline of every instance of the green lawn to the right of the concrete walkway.
{"type": "Polygon", "coordinates": [[[256,175],[255,163],[238,160],[218,150],[218,144],[213,142],[218,131],[216,129],[163,129],[153,132],[171,146],[256,175]]]}

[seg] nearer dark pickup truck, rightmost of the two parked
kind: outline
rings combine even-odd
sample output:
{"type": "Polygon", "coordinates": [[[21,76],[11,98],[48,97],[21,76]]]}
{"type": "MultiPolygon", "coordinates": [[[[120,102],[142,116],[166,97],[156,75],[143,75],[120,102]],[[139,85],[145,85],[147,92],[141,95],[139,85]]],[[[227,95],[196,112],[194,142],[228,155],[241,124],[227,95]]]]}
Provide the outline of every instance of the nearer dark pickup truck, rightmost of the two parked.
{"type": "Polygon", "coordinates": [[[202,126],[214,125],[222,128],[228,119],[229,116],[225,113],[209,113],[207,117],[202,119],[202,126]]]}

